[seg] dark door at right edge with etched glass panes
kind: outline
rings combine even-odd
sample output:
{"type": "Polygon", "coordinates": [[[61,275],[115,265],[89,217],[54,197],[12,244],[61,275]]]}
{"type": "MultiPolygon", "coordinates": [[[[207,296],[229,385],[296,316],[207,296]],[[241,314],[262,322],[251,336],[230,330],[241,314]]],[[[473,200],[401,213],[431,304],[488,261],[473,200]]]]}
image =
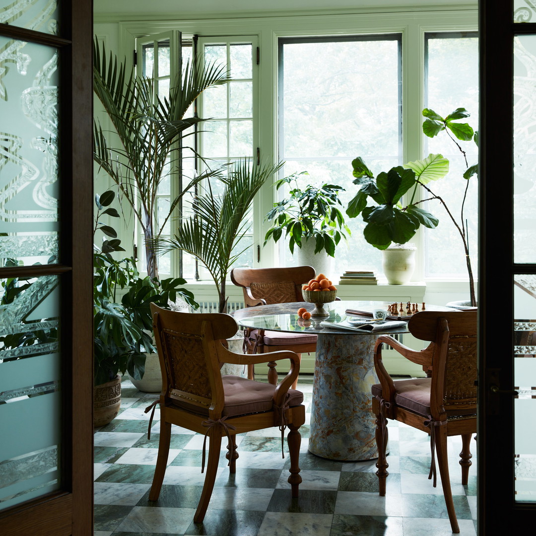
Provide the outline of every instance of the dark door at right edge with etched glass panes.
{"type": "Polygon", "coordinates": [[[536,4],[481,0],[479,534],[536,526],[536,4]]]}

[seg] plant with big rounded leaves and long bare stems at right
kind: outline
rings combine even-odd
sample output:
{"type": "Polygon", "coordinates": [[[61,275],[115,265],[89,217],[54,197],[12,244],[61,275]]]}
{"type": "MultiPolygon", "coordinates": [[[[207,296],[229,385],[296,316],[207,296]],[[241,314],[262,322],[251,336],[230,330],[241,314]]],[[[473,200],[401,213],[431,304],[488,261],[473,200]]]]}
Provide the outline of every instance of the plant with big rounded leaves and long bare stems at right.
{"type": "Polygon", "coordinates": [[[375,248],[386,249],[391,243],[405,244],[411,240],[421,225],[434,229],[439,220],[419,205],[437,199],[443,205],[463,241],[471,304],[475,306],[474,278],[464,207],[469,180],[477,174],[478,165],[468,165],[466,152],[459,142],[473,140],[478,145],[478,132],[474,132],[469,124],[458,122],[458,120],[470,116],[465,108],[457,108],[446,117],[442,117],[434,110],[425,108],[422,115],[426,117],[422,124],[422,130],[426,136],[433,138],[441,132],[445,132],[463,155],[466,168],[463,178],[466,183],[459,207],[459,220],[450,211],[445,200],[436,195],[429,187],[431,181],[437,181],[449,172],[449,160],[444,158],[442,154],[429,154],[423,160],[393,167],[388,172],[379,173],[376,178],[363,159],[356,158],[352,161],[353,175],[356,177],[353,182],[360,189],[349,202],[346,213],[350,218],[355,218],[361,214],[363,221],[367,224],[363,229],[365,240],[375,248]],[[429,194],[429,197],[419,199],[417,197],[419,187],[422,187],[429,194]],[[403,196],[405,196],[404,203],[409,200],[407,204],[402,203],[403,196]],[[374,204],[368,205],[369,198],[374,204]]]}

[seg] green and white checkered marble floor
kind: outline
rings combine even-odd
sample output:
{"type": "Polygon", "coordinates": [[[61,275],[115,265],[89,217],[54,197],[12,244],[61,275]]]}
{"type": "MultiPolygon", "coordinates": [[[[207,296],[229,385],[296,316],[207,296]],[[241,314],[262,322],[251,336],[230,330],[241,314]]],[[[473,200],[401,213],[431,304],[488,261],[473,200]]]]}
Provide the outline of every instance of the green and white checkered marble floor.
{"type": "MultiPolygon", "coordinates": [[[[330,461],[307,450],[312,378],[300,377],[306,425],[300,428],[300,497],[291,498],[289,458],[281,458],[277,428],[237,436],[236,473],[222,448],[220,468],[203,524],[193,513],[203,487],[203,436],[173,427],[168,468],[158,502],[148,501],[158,452],[155,412],[151,440],[143,410],[158,398],[122,383],[120,414],[95,430],[95,536],[434,536],[452,534],[443,499],[428,480],[430,444],[419,430],[389,421],[389,477],[378,495],[375,460],[330,461]]],[[[278,435],[279,434],[279,435],[278,435]]],[[[223,443],[222,443],[223,444],[223,443]]],[[[449,438],[452,493],[462,536],[476,534],[476,456],[468,486],[461,485],[461,441],[449,438]]],[[[472,450],[476,451],[473,443],[472,450]]]]}

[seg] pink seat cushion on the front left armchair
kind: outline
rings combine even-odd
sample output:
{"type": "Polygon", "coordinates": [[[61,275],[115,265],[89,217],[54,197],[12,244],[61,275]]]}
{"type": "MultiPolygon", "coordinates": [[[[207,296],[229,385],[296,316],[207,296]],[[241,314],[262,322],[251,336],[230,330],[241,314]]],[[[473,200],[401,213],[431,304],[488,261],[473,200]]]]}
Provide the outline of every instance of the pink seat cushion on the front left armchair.
{"type": "MultiPolygon", "coordinates": [[[[236,416],[272,410],[272,397],[276,385],[230,375],[222,376],[221,380],[225,391],[225,407],[222,415],[236,416]]],[[[288,390],[286,406],[299,406],[302,402],[301,391],[288,390]]]]}

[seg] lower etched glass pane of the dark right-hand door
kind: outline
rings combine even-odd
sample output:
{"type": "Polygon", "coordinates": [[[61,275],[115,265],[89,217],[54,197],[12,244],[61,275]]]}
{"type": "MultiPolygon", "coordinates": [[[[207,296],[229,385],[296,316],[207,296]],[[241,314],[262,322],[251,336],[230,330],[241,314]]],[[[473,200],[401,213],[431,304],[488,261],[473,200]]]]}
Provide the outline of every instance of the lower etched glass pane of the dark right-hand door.
{"type": "Polygon", "coordinates": [[[514,466],[516,501],[536,501],[536,275],[514,276],[514,466]]]}

